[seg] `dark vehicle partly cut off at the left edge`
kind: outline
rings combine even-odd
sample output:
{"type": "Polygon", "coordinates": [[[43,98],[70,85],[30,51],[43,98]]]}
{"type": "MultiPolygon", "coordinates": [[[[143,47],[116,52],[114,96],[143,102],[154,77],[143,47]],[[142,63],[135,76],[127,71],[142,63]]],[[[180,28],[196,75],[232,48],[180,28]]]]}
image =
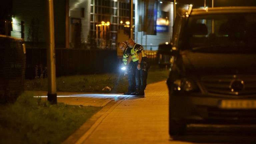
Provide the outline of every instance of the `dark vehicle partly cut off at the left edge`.
{"type": "Polygon", "coordinates": [[[24,91],[26,47],[24,39],[0,34],[0,105],[13,103],[24,91]]]}

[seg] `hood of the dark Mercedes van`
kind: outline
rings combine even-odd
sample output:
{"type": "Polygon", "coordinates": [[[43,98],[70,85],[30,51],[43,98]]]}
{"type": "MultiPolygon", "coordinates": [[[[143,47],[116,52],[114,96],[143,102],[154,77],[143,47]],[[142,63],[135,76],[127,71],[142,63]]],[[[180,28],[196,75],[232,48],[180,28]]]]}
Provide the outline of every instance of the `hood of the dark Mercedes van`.
{"type": "Polygon", "coordinates": [[[255,75],[255,54],[182,52],[186,73],[192,75],[255,75]]]}

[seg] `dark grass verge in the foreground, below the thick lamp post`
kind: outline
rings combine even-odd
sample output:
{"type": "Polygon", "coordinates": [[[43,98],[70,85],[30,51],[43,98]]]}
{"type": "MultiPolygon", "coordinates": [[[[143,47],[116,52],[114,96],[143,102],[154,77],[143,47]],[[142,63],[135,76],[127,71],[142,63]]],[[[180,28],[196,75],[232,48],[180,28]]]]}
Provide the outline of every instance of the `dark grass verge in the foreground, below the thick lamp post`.
{"type": "Polygon", "coordinates": [[[0,143],[61,143],[101,107],[73,106],[22,94],[0,106],[0,143]]]}

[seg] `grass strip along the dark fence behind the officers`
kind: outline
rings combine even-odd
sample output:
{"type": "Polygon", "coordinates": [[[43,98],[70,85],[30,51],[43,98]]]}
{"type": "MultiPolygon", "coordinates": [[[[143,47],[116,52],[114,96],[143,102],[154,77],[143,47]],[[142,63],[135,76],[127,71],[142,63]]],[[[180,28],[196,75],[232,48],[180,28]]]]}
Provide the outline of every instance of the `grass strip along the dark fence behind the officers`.
{"type": "MultiPolygon", "coordinates": [[[[149,70],[147,84],[166,80],[169,71],[149,70]]],[[[34,79],[25,81],[25,90],[47,91],[47,79],[34,79]]],[[[94,74],[75,75],[56,78],[57,91],[63,92],[111,92],[124,93],[128,88],[127,75],[119,74],[94,74]],[[104,87],[111,91],[102,91],[104,87]]]]}

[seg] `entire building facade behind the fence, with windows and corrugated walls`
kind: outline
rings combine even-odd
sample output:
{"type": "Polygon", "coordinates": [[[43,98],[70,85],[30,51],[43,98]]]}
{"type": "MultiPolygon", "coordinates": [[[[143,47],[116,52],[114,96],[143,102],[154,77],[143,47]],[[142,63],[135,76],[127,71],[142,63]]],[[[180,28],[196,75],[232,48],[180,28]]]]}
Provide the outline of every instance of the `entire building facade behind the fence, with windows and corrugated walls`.
{"type": "MultiPolygon", "coordinates": [[[[160,43],[170,42],[173,25],[173,2],[155,1],[154,15],[164,13],[165,26],[156,25],[155,33],[140,29],[141,4],[133,1],[133,38],[146,50],[157,50],[160,43]],[[157,29],[157,28],[160,28],[157,29]],[[164,30],[163,30],[164,28],[164,30]]],[[[56,48],[117,49],[118,37],[129,33],[129,0],[54,0],[56,48]],[[122,32],[123,35],[120,35],[122,32]]],[[[148,7],[144,7],[147,11],[148,7]]],[[[21,37],[21,22],[25,23],[25,41],[32,46],[45,42],[46,2],[42,0],[13,0],[13,31],[21,37]]],[[[156,21],[153,21],[156,23],[156,21]]]]}

